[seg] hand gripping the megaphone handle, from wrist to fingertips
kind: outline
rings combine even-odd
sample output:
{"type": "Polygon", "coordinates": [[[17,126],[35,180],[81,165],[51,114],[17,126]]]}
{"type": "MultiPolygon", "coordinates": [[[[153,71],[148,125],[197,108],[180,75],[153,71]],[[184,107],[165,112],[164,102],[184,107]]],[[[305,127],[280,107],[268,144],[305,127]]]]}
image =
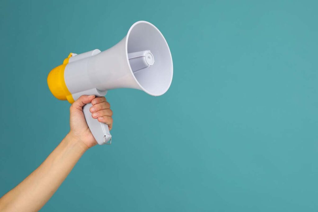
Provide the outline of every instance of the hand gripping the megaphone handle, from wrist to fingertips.
{"type": "Polygon", "coordinates": [[[77,141],[83,142],[87,149],[97,144],[93,134],[89,130],[84,113],[83,106],[92,103],[92,107],[89,109],[92,113],[92,117],[97,119],[101,123],[106,123],[109,130],[113,127],[113,112],[110,109],[110,104],[106,101],[105,97],[97,97],[94,95],[83,95],[77,99],[70,107],[70,135],[75,137],[77,141]]]}

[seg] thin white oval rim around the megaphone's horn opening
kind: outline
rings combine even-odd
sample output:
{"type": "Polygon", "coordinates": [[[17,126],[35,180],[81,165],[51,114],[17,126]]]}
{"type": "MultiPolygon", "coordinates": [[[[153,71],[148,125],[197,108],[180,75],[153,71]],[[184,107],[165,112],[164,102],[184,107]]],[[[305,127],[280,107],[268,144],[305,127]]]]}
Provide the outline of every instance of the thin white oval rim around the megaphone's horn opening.
{"type": "Polygon", "coordinates": [[[135,22],[133,25],[131,25],[131,27],[130,27],[129,30],[128,30],[128,33],[127,33],[127,35],[126,35],[125,45],[126,45],[126,59],[127,59],[127,63],[129,64],[129,70],[130,70],[130,73],[131,73],[131,75],[133,76],[135,82],[137,83],[137,85],[138,85],[144,92],[148,93],[148,94],[151,95],[151,96],[161,96],[162,94],[164,94],[165,92],[167,92],[168,89],[169,89],[169,87],[170,87],[170,85],[171,85],[171,83],[172,83],[172,78],[173,78],[173,61],[172,61],[172,56],[171,56],[171,51],[170,51],[169,45],[168,45],[166,39],[164,38],[164,36],[162,35],[161,31],[160,31],[154,24],[151,24],[151,23],[148,22],[148,21],[137,21],[137,22],[135,22]],[[155,94],[155,93],[152,93],[152,92],[147,91],[147,90],[138,82],[138,80],[136,79],[136,77],[135,77],[135,75],[134,75],[134,72],[133,72],[133,70],[131,69],[130,64],[129,64],[129,59],[128,59],[128,38],[129,38],[129,34],[130,34],[130,32],[132,31],[132,29],[133,29],[137,24],[141,24],[141,23],[149,24],[149,25],[152,26],[154,29],[156,29],[157,32],[158,32],[158,33],[161,35],[161,37],[163,38],[163,40],[164,40],[164,42],[165,42],[165,44],[167,45],[168,50],[169,50],[169,56],[170,56],[170,61],[171,61],[171,75],[172,75],[172,76],[171,76],[171,79],[170,79],[170,82],[169,82],[169,86],[167,87],[167,89],[166,89],[165,91],[163,91],[163,92],[161,92],[161,93],[156,93],[156,94],[155,94]]]}

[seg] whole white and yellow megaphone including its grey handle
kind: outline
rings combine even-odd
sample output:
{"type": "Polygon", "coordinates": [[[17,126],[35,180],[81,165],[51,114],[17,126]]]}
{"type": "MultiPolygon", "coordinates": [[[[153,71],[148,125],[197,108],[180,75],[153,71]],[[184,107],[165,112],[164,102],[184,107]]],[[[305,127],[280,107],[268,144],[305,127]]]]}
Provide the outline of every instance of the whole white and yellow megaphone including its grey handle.
{"type": "MultiPolygon", "coordinates": [[[[169,89],[172,75],[172,57],[162,33],[153,24],[138,21],[110,49],[70,53],[62,65],[52,69],[47,83],[57,99],[73,103],[81,95],[105,96],[115,88],[160,96],[169,89]]],[[[91,106],[83,107],[89,129],[98,144],[111,144],[107,124],[92,118],[91,106]]]]}

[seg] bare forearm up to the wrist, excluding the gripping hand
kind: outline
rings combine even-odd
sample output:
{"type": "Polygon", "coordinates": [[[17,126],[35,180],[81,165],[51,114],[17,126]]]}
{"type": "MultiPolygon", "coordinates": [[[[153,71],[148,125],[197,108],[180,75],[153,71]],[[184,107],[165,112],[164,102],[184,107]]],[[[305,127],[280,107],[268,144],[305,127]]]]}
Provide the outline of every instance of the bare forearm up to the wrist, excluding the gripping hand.
{"type": "Polygon", "coordinates": [[[0,211],[38,211],[59,188],[87,146],[67,135],[46,160],[0,199],[0,211]]]}

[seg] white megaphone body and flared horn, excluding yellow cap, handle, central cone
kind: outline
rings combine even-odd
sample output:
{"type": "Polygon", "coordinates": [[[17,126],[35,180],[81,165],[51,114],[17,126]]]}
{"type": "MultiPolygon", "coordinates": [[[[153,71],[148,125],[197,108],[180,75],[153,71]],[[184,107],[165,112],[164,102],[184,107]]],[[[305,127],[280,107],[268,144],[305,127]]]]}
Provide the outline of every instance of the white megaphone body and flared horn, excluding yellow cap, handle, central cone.
{"type": "Polygon", "coordinates": [[[100,91],[135,88],[160,96],[169,89],[173,76],[169,46],[161,32],[149,22],[136,22],[119,43],[106,51],[98,51],[90,51],[90,57],[66,65],[64,78],[72,94],[92,88],[100,91]],[[134,73],[129,64],[128,52],[145,50],[151,51],[155,62],[147,69],[134,73]]]}

